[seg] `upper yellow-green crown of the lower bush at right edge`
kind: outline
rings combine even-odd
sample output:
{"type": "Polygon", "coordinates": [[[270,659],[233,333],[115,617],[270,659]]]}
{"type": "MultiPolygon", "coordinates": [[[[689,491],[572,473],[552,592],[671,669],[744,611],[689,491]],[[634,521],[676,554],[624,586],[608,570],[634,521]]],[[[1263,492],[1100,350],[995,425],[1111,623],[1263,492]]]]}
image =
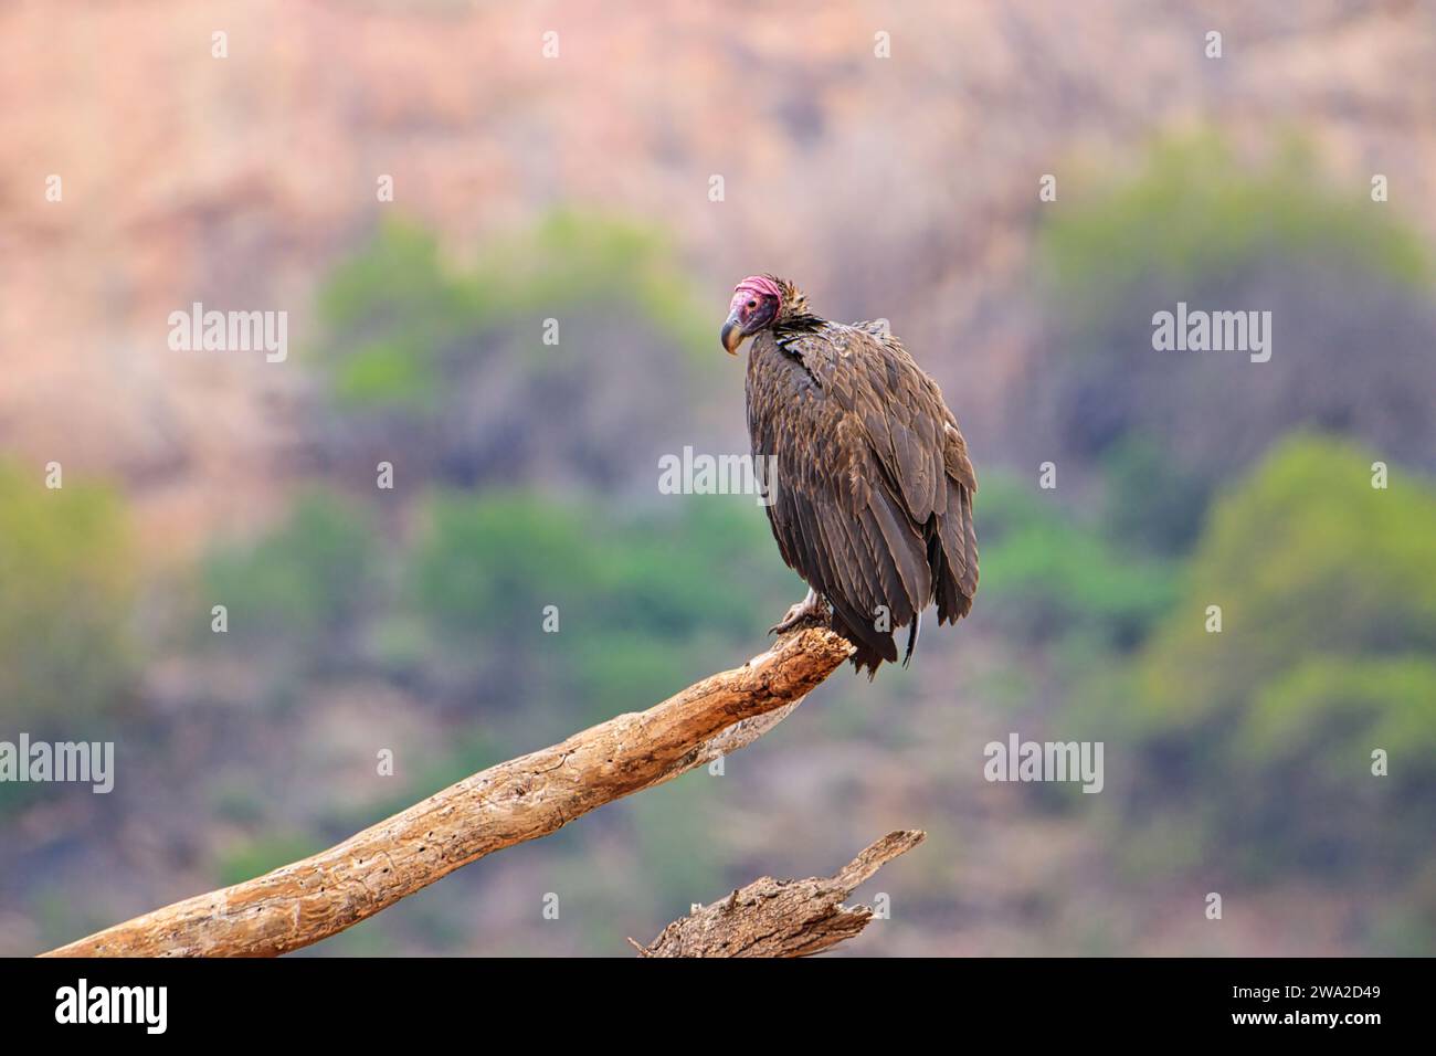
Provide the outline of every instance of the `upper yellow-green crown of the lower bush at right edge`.
{"type": "Polygon", "coordinates": [[[1212,513],[1183,605],[1143,665],[1144,701],[1200,720],[1251,703],[1308,657],[1436,649],[1436,499],[1377,490],[1374,455],[1288,441],[1212,513]],[[1223,632],[1206,634],[1206,605],[1223,632]]]}

